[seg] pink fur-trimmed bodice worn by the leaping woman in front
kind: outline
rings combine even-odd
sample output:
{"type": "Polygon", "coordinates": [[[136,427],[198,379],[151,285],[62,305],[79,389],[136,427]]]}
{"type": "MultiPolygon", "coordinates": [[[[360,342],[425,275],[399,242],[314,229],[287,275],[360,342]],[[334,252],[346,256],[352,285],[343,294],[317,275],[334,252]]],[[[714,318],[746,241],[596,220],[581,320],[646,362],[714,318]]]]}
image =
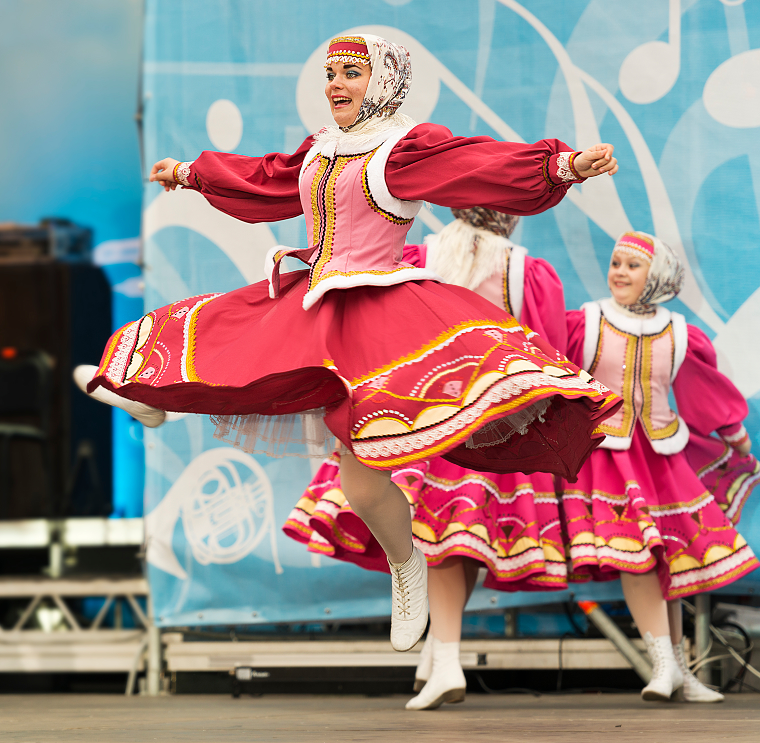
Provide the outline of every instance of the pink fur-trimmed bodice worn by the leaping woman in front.
{"type": "Polygon", "coordinates": [[[362,152],[341,154],[334,142],[312,147],[303,161],[299,190],[309,248],[271,249],[271,296],[277,296],[280,261],[296,256],[309,263],[308,310],[326,291],[439,280],[402,259],[404,241],[422,202],[395,198],[385,183],[385,163],[407,129],[389,129],[362,152]]]}

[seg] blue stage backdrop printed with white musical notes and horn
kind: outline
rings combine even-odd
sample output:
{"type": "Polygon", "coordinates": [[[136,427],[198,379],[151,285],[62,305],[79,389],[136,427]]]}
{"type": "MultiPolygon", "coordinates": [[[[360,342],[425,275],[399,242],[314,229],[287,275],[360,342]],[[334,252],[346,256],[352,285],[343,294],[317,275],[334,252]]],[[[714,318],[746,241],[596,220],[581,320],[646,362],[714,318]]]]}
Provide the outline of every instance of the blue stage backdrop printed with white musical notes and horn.
{"type": "MultiPolygon", "coordinates": [[[[613,241],[657,233],[687,265],[671,306],[710,335],[760,437],[760,5],[742,0],[148,0],[144,154],[291,152],[328,122],[328,40],[365,30],[404,43],[418,122],[458,135],[578,149],[616,145],[619,175],[574,186],[515,238],[548,259],[568,307],[608,295],[613,241]]],[[[418,242],[451,219],[423,210],[418,242]]],[[[195,192],[144,193],[145,303],[264,278],[266,250],[306,246],[302,218],[249,225],[195,192]]],[[[287,338],[283,338],[287,342],[287,338]]],[[[388,577],[284,538],[308,460],[221,446],[207,418],[146,432],[150,583],[160,624],[319,621],[387,614],[388,577]]],[[[758,497],[742,532],[760,551],[758,497]]],[[[744,582],[752,589],[752,579],[744,582]]],[[[619,596],[619,584],[578,595],[619,596]]],[[[562,598],[493,595],[469,608],[562,598]]]]}

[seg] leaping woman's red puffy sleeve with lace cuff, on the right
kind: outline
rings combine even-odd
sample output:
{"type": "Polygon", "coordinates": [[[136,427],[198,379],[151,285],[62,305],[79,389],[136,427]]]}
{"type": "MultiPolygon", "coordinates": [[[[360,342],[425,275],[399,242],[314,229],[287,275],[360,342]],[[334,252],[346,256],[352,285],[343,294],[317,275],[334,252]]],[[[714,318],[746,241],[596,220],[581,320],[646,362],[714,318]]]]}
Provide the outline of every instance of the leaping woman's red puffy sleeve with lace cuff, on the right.
{"type": "Polygon", "coordinates": [[[445,126],[420,124],[391,151],[385,181],[407,201],[538,214],[584,180],[572,164],[577,154],[559,139],[519,144],[454,137],[445,126]]]}

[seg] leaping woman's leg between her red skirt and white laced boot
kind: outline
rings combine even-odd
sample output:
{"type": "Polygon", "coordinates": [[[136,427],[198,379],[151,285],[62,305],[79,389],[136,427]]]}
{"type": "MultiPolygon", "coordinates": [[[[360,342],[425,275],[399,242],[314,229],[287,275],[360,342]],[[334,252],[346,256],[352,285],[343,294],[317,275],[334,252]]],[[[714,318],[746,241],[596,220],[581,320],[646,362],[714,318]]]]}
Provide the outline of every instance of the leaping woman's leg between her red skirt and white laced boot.
{"type": "Polygon", "coordinates": [[[404,491],[391,481],[389,470],[366,467],[353,454],[340,453],[340,484],[356,516],[388,555],[404,563],[412,554],[412,517],[404,491]]]}

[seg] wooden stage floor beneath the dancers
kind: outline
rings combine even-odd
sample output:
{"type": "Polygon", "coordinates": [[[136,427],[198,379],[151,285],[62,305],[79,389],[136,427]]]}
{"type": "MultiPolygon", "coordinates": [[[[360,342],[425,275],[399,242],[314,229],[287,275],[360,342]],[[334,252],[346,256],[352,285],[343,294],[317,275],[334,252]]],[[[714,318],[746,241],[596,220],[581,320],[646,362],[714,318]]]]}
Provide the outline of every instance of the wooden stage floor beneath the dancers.
{"type": "Polygon", "coordinates": [[[433,712],[407,712],[408,696],[0,696],[2,741],[97,743],[701,743],[760,741],[760,696],[722,704],[644,703],[637,694],[486,696],[433,712]]]}

